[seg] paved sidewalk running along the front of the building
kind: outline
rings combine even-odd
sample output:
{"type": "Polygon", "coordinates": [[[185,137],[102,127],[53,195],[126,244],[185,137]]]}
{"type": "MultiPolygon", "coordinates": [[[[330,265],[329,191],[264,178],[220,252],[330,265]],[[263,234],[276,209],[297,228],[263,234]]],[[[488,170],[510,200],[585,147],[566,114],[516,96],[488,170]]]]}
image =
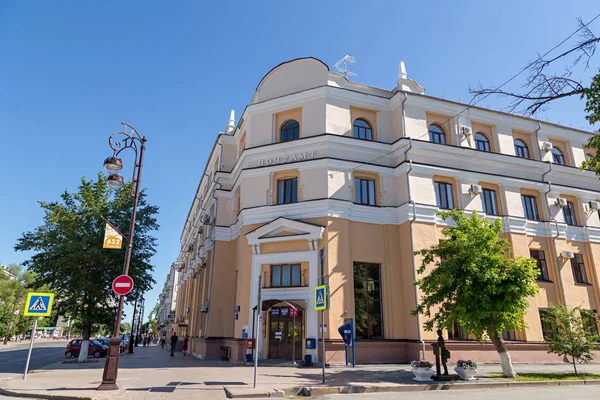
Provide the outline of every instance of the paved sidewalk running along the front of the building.
{"type": "MultiPolygon", "coordinates": [[[[94,361],[94,360],[92,360],[94,361]]],[[[21,395],[44,395],[59,398],[87,399],[225,399],[226,392],[235,397],[269,397],[293,393],[293,388],[311,387],[312,393],[367,392],[395,390],[431,390],[442,385],[423,384],[412,379],[409,365],[360,365],[356,368],[333,366],[326,370],[326,384],[321,384],[321,369],[293,368],[282,364],[259,366],[257,388],[252,388],[253,367],[227,362],[199,360],[177,353],[170,357],[160,346],[137,347],[134,355],[121,357],[119,390],[98,392],[104,359],[98,362],[55,363],[31,373],[26,381],[10,379],[0,382],[0,388],[21,395]],[[438,386],[435,386],[438,385],[438,386]],[[322,389],[319,389],[322,388],[322,389]],[[336,389],[331,389],[336,388],[336,389]]],[[[570,364],[516,364],[517,372],[572,372],[570,364]]],[[[600,365],[579,366],[581,372],[600,372],[600,365]]],[[[444,388],[478,384],[514,383],[487,378],[499,373],[499,365],[479,367],[479,379],[471,382],[446,382],[444,388]]]]}

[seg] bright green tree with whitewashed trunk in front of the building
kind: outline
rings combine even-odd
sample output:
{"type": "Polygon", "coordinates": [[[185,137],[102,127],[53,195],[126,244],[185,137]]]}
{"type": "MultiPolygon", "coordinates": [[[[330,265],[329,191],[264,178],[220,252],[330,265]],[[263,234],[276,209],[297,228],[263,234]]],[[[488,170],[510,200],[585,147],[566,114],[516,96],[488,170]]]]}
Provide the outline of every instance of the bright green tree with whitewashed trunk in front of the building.
{"type": "Polygon", "coordinates": [[[427,317],[428,331],[434,327],[449,330],[460,323],[478,341],[491,339],[502,373],[515,377],[502,332],[526,327],[528,298],[538,291],[536,262],[510,257],[508,241],[499,237],[500,219],[489,222],[477,212],[469,217],[458,210],[438,215],[455,226],[444,229],[447,240],[415,252],[422,257],[421,278],[415,282],[422,298],[413,315],[427,317]]]}

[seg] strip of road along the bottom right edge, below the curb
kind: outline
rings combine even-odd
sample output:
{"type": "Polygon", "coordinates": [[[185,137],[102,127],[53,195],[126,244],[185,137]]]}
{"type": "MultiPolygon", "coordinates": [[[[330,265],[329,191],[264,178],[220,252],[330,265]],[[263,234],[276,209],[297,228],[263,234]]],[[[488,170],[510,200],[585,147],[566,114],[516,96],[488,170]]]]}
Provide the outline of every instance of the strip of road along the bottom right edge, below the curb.
{"type": "Polygon", "coordinates": [[[532,387],[532,388],[502,388],[484,390],[435,390],[424,392],[399,393],[363,393],[347,395],[328,395],[319,397],[320,400],[590,400],[597,399],[600,386],[562,386],[562,387],[532,387]]]}

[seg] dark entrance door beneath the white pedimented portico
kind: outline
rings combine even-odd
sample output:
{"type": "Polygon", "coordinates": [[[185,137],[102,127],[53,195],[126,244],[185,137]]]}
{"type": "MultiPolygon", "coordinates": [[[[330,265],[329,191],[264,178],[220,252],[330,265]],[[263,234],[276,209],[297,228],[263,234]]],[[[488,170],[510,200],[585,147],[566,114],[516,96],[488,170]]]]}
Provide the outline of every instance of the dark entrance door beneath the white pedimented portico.
{"type": "Polygon", "coordinates": [[[296,310],[296,323],[294,326],[293,313],[294,309],[291,307],[271,307],[271,323],[269,325],[270,359],[286,361],[302,359],[304,318],[302,310],[296,310]]]}

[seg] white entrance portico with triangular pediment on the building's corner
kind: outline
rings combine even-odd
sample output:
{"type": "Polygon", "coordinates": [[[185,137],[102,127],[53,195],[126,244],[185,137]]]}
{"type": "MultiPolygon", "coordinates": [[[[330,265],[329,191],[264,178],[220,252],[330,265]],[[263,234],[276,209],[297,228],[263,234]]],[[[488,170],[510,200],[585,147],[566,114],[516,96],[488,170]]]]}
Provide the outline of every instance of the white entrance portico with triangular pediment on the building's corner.
{"type": "MultiPolygon", "coordinates": [[[[304,339],[319,337],[318,314],[314,310],[312,297],[318,284],[319,240],[323,238],[324,231],[325,228],[319,225],[278,218],[246,234],[248,244],[252,246],[251,306],[248,315],[251,332],[257,331],[253,309],[258,303],[259,276],[262,275],[263,280],[263,306],[258,307],[261,310],[260,335],[257,340],[259,359],[269,357],[267,340],[271,326],[266,321],[271,321],[271,315],[266,315],[263,311],[264,302],[284,301],[304,306],[304,329],[303,337],[300,338],[302,355],[310,354],[313,360],[318,361],[316,349],[304,350],[304,339]],[[277,268],[276,279],[273,279],[274,267],[277,268]]],[[[289,327],[287,324],[283,326],[287,332],[289,327]]],[[[300,355],[297,358],[300,359],[300,355]]]]}

